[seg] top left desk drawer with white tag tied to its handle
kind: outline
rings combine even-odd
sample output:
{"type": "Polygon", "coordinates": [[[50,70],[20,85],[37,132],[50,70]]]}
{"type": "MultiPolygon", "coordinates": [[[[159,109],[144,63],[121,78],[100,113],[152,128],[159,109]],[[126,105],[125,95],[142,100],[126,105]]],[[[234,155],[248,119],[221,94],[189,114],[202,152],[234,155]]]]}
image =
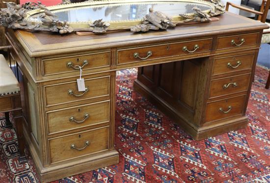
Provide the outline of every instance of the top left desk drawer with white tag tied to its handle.
{"type": "Polygon", "coordinates": [[[44,75],[54,75],[67,72],[78,72],[102,67],[109,67],[110,52],[82,54],[78,56],[67,56],[52,59],[44,59],[44,75]],[[78,65],[78,66],[77,66],[78,65]],[[76,66],[75,68],[73,68],[76,66]]]}

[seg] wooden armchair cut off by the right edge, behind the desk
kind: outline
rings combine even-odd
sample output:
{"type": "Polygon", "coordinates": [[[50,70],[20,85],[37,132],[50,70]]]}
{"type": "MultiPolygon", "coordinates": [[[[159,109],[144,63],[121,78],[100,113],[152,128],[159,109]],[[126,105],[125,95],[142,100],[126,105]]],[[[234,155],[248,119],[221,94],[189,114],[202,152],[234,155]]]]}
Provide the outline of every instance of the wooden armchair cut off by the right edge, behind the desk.
{"type": "MultiPolygon", "coordinates": [[[[261,21],[262,23],[266,23],[265,21],[266,21],[267,13],[268,13],[269,6],[270,6],[270,0],[262,0],[260,11],[249,9],[249,8],[243,7],[241,5],[234,4],[232,2],[227,2],[226,11],[229,10],[230,5],[232,7],[241,9],[243,11],[247,11],[247,12],[250,12],[250,13],[254,13],[255,15],[258,15],[257,20],[261,21]]],[[[268,24],[268,23],[266,23],[266,24],[268,24]]],[[[270,24],[268,24],[268,25],[270,25],[270,24]]],[[[270,43],[270,28],[264,30],[263,37],[262,37],[262,43],[270,43]],[[266,36],[266,34],[268,34],[268,35],[266,36]]],[[[268,80],[267,80],[265,88],[269,89],[269,86],[270,86],[270,72],[269,72],[269,76],[268,76],[268,80]]]]}

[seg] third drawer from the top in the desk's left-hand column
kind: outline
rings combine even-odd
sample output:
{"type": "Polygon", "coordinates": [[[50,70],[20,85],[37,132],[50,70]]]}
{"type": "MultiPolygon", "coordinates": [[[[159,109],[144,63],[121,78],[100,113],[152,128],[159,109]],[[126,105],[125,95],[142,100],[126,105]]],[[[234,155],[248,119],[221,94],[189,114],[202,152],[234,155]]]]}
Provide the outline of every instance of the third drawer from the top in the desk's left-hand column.
{"type": "Polygon", "coordinates": [[[47,112],[49,134],[109,122],[109,101],[47,112]]]}

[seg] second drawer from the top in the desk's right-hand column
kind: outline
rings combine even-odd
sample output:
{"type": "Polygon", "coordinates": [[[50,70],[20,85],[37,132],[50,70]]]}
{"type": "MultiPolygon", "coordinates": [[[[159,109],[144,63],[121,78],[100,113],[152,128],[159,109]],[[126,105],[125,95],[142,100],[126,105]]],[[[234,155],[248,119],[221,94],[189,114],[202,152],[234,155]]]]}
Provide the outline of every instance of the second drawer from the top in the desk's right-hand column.
{"type": "Polygon", "coordinates": [[[214,60],[213,75],[251,70],[255,53],[235,55],[214,60]]]}

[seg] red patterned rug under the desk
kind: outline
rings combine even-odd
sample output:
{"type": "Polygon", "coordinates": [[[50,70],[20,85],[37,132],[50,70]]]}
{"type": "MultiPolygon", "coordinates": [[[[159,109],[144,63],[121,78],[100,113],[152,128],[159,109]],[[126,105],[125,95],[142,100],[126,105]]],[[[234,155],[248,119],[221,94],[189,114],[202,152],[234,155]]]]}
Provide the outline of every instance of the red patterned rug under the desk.
{"type": "MultiPolygon", "coordinates": [[[[268,71],[256,68],[248,103],[249,124],[195,141],[133,90],[136,70],[118,72],[115,149],[119,164],[54,183],[267,183],[270,182],[268,71]]],[[[33,160],[18,163],[14,129],[0,116],[0,183],[36,183],[33,160]]]]}

